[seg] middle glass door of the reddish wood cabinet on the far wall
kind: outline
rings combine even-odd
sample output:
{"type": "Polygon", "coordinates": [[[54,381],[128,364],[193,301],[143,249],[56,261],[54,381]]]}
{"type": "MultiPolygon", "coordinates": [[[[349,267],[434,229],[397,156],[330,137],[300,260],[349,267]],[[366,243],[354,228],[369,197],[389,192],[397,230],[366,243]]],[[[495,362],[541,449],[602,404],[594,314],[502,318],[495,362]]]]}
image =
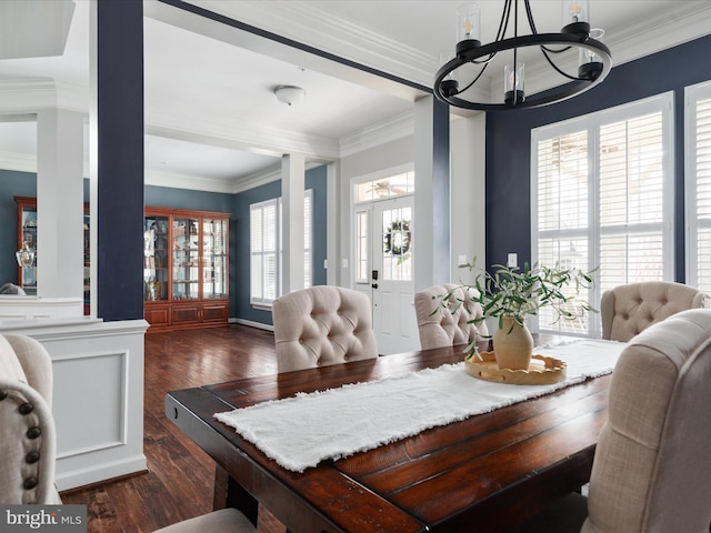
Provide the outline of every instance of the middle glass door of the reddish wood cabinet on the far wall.
{"type": "Polygon", "coordinates": [[[200,294],[200,248],[197,219],[173,219],[173,300],[197,300],[200,294]]]}

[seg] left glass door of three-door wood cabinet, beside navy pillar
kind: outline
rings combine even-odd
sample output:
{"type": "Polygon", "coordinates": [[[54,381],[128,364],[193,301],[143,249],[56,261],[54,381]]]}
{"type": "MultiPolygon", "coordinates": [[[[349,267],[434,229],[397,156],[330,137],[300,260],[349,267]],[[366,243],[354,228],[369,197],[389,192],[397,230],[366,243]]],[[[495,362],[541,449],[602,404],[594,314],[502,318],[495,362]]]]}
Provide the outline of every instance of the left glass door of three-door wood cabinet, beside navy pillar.
{"type": "Polygon", "coordinates": [[[168,217],[143,221],[143,298],[168,300],[168,217]]]}

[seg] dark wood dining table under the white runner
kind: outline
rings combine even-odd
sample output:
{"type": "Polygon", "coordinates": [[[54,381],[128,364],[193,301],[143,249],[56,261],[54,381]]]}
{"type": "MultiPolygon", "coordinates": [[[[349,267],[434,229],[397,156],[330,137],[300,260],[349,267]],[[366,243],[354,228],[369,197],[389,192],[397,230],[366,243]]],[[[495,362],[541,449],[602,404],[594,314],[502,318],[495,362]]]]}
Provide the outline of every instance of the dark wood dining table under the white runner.
{"type": "Polygon", "coordinates": [[[214,459],[216,509],[238,507],[253,522],[259,502],[293,533],[505,531],[589,480],[611,375],[303,473],[213,418],[461,360],[462,346],[441,348],[173,391],[166,414],[214,459]]]}

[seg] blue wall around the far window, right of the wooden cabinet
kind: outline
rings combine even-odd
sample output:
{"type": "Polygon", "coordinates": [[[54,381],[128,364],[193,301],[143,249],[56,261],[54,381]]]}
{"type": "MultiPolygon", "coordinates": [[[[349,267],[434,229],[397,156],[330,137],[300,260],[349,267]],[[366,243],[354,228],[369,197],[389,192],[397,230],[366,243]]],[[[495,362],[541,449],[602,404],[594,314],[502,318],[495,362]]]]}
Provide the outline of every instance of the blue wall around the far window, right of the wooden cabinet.
{"type": "MultiPolygon", "coordinates": [[[[313,190],[313,284],[326,284],[327,248],[327,168],[318,167],[307,171],[306,188],[313,190]]],[[[239,266],[230,268],[230,316],[249,320],[262,324],[271,324],[271,311],[254,309],[249,303],[249,207],[281,195],[281,182],[276,181],[262,187],[241,192],[234,198],[234,222],[230,227],[237,235],[236,250],[230,250],[230,258],[240,259],[239,266]]],[[[231,261],[234,264],[234,261],[231,261]]]]}

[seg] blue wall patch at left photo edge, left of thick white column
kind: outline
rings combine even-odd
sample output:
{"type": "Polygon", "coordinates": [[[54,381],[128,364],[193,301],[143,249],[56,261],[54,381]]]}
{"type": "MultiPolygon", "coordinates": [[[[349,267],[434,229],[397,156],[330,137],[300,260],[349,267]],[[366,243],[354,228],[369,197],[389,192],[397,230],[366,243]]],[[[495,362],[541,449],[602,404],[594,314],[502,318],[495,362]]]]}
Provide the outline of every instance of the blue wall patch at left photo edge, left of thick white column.
{"type": "Polygon", "coordinates": [[[37,174],[0,170],[0,285],[18,282],[18,204],[13,197],[37,197],[37,174]]]}

